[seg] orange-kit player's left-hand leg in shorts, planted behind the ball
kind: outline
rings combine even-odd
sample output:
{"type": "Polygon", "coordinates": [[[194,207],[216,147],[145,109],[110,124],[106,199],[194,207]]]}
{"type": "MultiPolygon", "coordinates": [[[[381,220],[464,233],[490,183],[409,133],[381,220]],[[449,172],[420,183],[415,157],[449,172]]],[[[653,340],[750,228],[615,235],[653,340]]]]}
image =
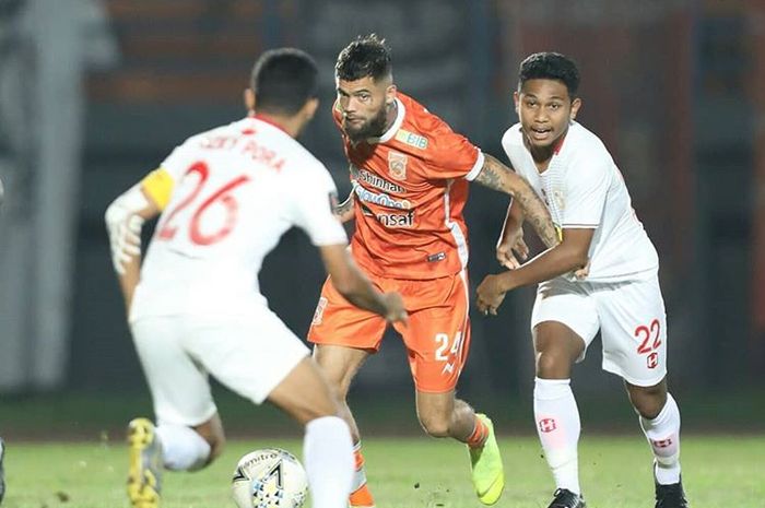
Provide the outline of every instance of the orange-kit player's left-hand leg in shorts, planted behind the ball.
{"type": "MultiPolygon", "coordinates": [[[[375,277],[372,280],[376,283],[375,277]]],[[[334,290],[329,279],[325,282],[308,340],[316,344],[314,357],[338,394],[340,415],[351,428],[355,459],[352,507],[374,507],[375,500],[367,485],[361,437],[348,405],[348,392],[361,366],[379,347],[385,327],[379,316],[354,307],[334,290]]]]}

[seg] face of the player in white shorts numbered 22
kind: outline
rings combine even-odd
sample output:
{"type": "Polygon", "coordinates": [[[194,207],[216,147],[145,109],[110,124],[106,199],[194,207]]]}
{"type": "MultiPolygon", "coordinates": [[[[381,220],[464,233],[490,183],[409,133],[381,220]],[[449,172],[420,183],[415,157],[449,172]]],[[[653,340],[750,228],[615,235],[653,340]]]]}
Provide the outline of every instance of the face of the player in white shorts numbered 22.
{"type": "Polygon", "coordinates": [[[557,80],[528,80],[514,98],[526,139],[537,149],[550,147],[564,135],[581,106],[557,80]]]}

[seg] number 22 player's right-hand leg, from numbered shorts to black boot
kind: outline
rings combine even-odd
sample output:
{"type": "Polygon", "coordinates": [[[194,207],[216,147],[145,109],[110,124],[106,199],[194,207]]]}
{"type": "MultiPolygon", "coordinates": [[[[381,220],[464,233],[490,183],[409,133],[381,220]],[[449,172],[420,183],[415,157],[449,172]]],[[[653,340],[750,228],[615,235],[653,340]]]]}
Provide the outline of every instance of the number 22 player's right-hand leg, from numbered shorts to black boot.
{"type": "Polygon", "coordinates": [[[598,298],[603,368],[624,379],[654,454],[656,506],[685,508],[680,474],[680,410],[667,390],[667,318],[657,277],[598,298]]]}

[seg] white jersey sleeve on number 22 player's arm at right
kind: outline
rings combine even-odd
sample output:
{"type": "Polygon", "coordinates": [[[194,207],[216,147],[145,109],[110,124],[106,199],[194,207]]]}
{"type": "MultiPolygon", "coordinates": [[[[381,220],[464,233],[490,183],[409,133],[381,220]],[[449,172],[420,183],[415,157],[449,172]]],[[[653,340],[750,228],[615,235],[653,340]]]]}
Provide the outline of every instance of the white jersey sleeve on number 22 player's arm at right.
{"type": "Polygon", "coordinates": [[[563,228],[597,228],[600,225],[613,164],[608,157],[578,157],[566,172],[563,228]]]}

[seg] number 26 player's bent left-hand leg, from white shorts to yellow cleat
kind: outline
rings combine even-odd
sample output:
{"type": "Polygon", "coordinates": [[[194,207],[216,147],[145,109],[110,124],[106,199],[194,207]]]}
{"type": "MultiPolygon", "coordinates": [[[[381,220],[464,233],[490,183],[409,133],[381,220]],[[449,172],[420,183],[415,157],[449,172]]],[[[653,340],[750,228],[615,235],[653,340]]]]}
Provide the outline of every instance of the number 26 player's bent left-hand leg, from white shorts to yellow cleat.
{"type": "Polygon", "coordinates": [[[146,318],[132,324],[158,423],[136,418],[128,426],[128,497],[136,508],[158,506],[164,468],[202,468],[223,445],[207,373],[184,350],[184,327],[179,317],[146,318]]]}

